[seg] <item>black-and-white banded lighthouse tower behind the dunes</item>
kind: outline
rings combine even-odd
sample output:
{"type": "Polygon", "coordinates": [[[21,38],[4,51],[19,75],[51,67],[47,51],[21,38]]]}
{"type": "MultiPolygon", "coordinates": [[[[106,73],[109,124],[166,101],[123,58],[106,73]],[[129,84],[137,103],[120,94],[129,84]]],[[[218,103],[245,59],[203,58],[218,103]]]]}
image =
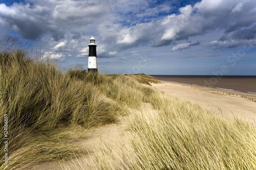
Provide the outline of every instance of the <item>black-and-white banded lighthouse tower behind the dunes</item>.
{"type": "Polygon", "coordinates": [[[96,46],[95,38],[91,37],[89,43],[88,72],[98,72],[96,46]]]}

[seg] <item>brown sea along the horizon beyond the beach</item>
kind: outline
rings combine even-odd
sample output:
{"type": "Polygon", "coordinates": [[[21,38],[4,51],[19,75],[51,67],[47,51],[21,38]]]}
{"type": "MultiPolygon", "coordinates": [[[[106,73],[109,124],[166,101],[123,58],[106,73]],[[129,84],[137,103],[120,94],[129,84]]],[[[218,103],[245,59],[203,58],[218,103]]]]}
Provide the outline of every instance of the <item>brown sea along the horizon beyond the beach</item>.
{"type": "Polygon", "coordinates": [[[150,76],[153,76],[161,81],[171,81],[256,94],[256,76],[150,76]]]}

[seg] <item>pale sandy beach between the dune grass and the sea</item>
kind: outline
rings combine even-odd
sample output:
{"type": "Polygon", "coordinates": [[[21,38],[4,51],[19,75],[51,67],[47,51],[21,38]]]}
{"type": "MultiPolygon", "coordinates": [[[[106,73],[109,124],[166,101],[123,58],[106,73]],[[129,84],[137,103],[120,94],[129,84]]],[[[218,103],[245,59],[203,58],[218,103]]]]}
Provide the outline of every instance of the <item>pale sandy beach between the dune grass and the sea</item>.
{"type": "Polygon", "coordinates": [[[165,81],[152,86],[218,115],[226,118],[238,116],[256,125],[256,94],[165,81]]]}

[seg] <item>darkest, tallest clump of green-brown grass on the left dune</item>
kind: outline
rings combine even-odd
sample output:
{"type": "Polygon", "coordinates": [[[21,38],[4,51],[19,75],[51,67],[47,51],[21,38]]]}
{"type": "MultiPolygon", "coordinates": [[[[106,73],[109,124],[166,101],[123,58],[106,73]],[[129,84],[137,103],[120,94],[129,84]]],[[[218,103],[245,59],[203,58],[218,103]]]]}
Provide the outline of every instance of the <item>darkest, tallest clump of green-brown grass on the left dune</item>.
{"type": "MultiPolygon", "coordinates": [[[[7,108],[10,122],[51,129],[60,122],[88,126],[87,118],[99,112],[109,118],[112,103],[104,100],[93,81],[74,79],[60,72],[54,63],[26,59],[20,51],[2,53],[0,58],[1,104],[7,108]],[[82,112],[87,118],[80,116],[82,112]]],[[[101,121],[106,120],[102,117],[101,121]]]]}

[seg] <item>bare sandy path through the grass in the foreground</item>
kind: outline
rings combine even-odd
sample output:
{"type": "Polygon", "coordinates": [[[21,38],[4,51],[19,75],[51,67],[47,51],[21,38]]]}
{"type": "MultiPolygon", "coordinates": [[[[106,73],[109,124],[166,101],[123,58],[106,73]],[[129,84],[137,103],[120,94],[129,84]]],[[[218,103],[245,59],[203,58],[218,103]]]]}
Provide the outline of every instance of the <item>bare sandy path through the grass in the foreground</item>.
{"type": "Polygon", "coordinates": [[[120,155],[123,148],[130,144],[129,132],[126,129],[127,117],[120,117],[117,123],[104,125],[90,131],[86,138],[77,138],[74,143],[78,144],[84,152],[88,153],[81,158],[62,162],[45,162],[31,165],[26,170],[73,170],[73,169],[97,169],[95,165],[98,149],[107,148],[114,155],[120,155]],[[106,147],[105,147],[106,148],[106,147]]]}

